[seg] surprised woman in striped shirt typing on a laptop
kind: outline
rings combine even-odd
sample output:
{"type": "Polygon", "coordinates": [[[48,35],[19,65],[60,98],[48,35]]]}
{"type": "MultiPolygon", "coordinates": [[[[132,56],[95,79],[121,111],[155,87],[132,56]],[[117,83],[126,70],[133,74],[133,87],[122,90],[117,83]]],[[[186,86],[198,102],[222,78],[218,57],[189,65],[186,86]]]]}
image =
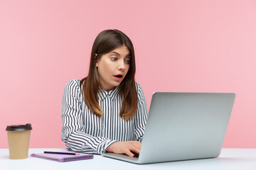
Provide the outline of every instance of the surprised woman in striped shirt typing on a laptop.
{"type": "Polygon", "coordinates": [[[92,46],[88,76],[65,86],[61,137],[68,149],[139,154],[148,111],[134,75],[131,40],[119,30],[103,30],[92,46]]]}

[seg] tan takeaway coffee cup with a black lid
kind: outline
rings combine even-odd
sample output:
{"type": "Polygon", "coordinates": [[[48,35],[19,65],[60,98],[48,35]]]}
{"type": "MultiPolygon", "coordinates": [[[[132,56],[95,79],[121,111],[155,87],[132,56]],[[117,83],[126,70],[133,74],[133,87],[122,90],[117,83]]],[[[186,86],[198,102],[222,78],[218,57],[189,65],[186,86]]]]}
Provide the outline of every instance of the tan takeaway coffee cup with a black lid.
{"type": "Polygon", "coordinates": [[[28,145],[31,134],[31,124],[7,126],[10,159],[28,158],[28,145]]]}

